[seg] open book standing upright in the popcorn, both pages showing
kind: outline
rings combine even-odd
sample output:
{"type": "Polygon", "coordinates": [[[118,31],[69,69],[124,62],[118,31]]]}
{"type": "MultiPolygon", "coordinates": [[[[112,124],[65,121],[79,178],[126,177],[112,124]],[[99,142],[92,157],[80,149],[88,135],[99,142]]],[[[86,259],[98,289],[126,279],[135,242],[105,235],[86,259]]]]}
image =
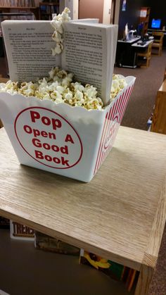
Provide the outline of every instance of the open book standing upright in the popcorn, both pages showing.
{"type": "Polygon", "coordinates": [[[74,73],[75,80],[92,84],[106,104],[115,63],[117,25],[103,25],[96,20],[63,23],[64,49],[52,56],[53,27],[46,20],[4,20],[1,23],[8,58],[10,79],[31,81],[46,77],[58,66],[74,73]]]}

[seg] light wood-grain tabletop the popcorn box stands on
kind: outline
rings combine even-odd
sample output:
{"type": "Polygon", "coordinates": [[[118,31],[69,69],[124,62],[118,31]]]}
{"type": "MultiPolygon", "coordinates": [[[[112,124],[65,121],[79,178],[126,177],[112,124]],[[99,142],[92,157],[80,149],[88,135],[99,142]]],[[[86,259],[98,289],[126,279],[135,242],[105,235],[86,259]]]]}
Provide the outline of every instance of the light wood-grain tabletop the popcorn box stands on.
{"type": "Polygon", "coordinates": [[[166,218],[166,137],[120,127],[90,183],[19,165],[0,130],[0,215],[140,271],[148,294],[166,218]]]}

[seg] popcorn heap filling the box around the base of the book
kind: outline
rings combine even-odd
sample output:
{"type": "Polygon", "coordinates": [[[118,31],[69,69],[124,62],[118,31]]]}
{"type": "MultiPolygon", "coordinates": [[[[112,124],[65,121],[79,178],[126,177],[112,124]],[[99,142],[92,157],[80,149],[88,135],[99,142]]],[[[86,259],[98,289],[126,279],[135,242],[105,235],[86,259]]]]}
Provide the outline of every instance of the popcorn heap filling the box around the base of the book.
{"type": "MultiPolygon", "coordinates": [[[[0,92],[10,94],[23,94],[35,96],[41,100],[51,100],[54,103],[68,103],[70,106],[82,106],[87,110],[102,110],[103,101],[97,96],[96,87],[90,84],[85,86],[79,82],[72,82],[73,74],[54,67],[49,76],[39,79],[37,82],[12,82],[0,84],[0,92]]],[[[110,101],[127,85],[120,75],[113,75],[110,92],[110,101]]]]}

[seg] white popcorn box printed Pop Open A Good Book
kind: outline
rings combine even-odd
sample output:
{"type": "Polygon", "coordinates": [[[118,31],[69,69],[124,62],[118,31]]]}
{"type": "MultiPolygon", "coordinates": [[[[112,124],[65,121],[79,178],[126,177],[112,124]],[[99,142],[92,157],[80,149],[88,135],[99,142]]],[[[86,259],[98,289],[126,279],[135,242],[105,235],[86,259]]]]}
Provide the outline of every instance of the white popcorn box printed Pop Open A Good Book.
{"type": "Polygon", "coordinates": [[[113,147],[135,77],[103,110],[0,93],[0,118],[21,164],[89,182],[113,147]]]}

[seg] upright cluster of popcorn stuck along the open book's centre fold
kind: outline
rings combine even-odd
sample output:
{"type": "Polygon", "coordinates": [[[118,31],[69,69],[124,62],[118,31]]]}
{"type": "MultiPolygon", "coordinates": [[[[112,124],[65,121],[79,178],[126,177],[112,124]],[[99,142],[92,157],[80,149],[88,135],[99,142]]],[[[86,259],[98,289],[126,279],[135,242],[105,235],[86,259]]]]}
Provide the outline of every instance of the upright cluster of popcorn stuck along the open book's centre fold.
{"type": "Polygon", "coordinates": [[[65,7],[64,11],[56,16],[54,16],[53,20],[51,20],[51,26],[54,28],[54,32],[52,34],[52,39],[56,41],[56,47],[52,48],[52,55],[56,56],[56,54],[61,54],[63,51],[63,23],[68,22],[71,18],[68,15],[70,13],[69,8],[65,7]]]}

